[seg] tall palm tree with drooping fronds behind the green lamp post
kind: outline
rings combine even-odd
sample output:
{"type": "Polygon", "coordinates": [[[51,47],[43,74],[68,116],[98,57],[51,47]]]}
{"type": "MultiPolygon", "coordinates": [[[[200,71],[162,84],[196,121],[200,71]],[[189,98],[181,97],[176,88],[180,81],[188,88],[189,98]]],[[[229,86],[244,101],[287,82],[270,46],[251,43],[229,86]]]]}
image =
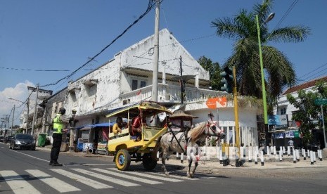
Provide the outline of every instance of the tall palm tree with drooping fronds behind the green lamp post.
{"type": "Polygon", "coordinates": [[[264,20],[271,11],[272,3],[272,0],[264,0],[262,4],[255,4],[251,12],[241,9],[235,18],[217,18],[211,22],[212,27],[217,27],[219,37],[227,37],[236,41],[233,54],[226,60],[224,66],[236,67],[236,80],[241,95],[262,98],[256,15],[261,24],[260,38],[268,96],[270,95],[270,99],[274,99],[281,94],[285,86],[296,84],[292,63],[277,48],[269,46],[268,41],[304,41],[310,34],[310,29],[298,25],[282,27],[269,32],[264,20]]]}

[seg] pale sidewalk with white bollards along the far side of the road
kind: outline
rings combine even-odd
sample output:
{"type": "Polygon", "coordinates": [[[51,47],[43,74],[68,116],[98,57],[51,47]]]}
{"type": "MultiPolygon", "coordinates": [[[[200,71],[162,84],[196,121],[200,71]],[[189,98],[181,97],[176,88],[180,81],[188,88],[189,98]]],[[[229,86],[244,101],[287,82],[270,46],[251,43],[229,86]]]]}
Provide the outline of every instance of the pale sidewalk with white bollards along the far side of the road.
{"type": "MultiPolygon", "coordinates": [[[[45,147],[37,147],[37,150],[46,150],[51,151],[51,145],[46,145],[45,147]]],[[[111,158],[112,161],[113,156],[110,155],[100,155],[100,154],[92,154],[92,153],[70,153],[68,152],[60,152],[60,154],[67,155],[75,155],[80,157],[108,157],[111,158]]],[[[158,164],[161,164],[161,159],[158,161],[158,164]]],[[[167,165],[179,165],[181,167],[188,167],[188,160],[184,157],[183,162],[181,160],[176,159],[176,155],[171,155],[169,160],[166,162],[167,165]]],[[[279,158],[274,155],[270,155],[269,160],[267,155],[264,157],[264,162],[258,158],[257,164],[255,160],[249,162],[248,160],[241,160],[241,167],[236,167],[235,160],[230,160],[229,164],[224,165],[220,164],[220,161],[217,159],[212,160],[200,160],[198,164],[198,168],[203,169],[290,169],[290,168],[316,168],[316,167],[327,167],[327,160],[323,159],[322,161],[319,158],[316,158],[316,162],[311,164],[310,158],[307,157],[304,160],[303,157],[300,157],[300,161],[293,162],[293,156],[283,155],[282,162],[279,162],[279,158]]]]}

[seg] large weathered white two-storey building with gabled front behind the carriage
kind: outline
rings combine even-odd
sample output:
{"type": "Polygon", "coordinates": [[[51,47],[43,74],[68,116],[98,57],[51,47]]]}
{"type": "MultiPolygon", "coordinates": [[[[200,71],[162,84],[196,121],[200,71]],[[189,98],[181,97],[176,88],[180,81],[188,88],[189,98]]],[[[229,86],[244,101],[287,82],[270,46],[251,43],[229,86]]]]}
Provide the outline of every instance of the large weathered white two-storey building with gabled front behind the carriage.
{"type": "MultiPolygon", "coordinates": [[[[179,78],[182,68],[182,75],[187,79],[184,111],[199,117],[194,123],[205,121],[208,113],[212,112],[216,119],[219,117],[219,125],[226,129],[231,127],[230,134],[234,134],[233,101],[215,110],[206,105],[207,99],[212,96],[230,94],[209,89],[209,72],[198,64],[168,30],[159,32],[159,40],[158,103],[167,106],[181,103],[179,78]]],[[[77,110],[77,127],[108,123],[105,115],[109,112],[139,101],[151,100],[153,45],[154,36],[147,37],[117,53],[108,63],[68,84],[64,107],[68,115],[71,110],[77,110]]],[[[239,112],[241,134],[247,134],[242,137],[246,145],[250,144],[249,141],[252,145],[257,145],[256,115],[257,108],[243,108],[239,112]]]]}

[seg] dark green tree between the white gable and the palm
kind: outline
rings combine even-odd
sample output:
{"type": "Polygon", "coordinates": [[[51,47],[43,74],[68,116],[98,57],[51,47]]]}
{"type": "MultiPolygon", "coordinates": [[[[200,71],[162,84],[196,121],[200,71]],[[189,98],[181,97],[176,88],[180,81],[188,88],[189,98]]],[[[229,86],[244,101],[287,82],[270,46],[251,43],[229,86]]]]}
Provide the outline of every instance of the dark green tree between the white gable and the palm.
{"type": "Polygon", "coordinates": [[[210,58],[206,58],[205,56],[201,56],[198,59],[198,63],[209,72],[210,75],[210,84],[213,90],[220,90],[221,83],[220,83],[220,69],[219,63],[212,63],[210,58]]]}

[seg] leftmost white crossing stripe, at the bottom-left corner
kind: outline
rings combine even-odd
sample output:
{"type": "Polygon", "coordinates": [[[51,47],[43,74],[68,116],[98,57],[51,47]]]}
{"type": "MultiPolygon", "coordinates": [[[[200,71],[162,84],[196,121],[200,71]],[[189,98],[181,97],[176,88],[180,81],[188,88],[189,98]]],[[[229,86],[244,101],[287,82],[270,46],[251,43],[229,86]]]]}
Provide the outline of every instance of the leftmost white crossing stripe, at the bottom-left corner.
{"type": "Polygon", "coordinates": [[[11,187],[13,193],[15,194],[37,194],[39,190],[34,188],[30,183],[25,181],[22,176],[19,176],[17,173],[12,170],[3,170],[0,171],[0,175],[4,178],[8,186],[11,187]]]}

